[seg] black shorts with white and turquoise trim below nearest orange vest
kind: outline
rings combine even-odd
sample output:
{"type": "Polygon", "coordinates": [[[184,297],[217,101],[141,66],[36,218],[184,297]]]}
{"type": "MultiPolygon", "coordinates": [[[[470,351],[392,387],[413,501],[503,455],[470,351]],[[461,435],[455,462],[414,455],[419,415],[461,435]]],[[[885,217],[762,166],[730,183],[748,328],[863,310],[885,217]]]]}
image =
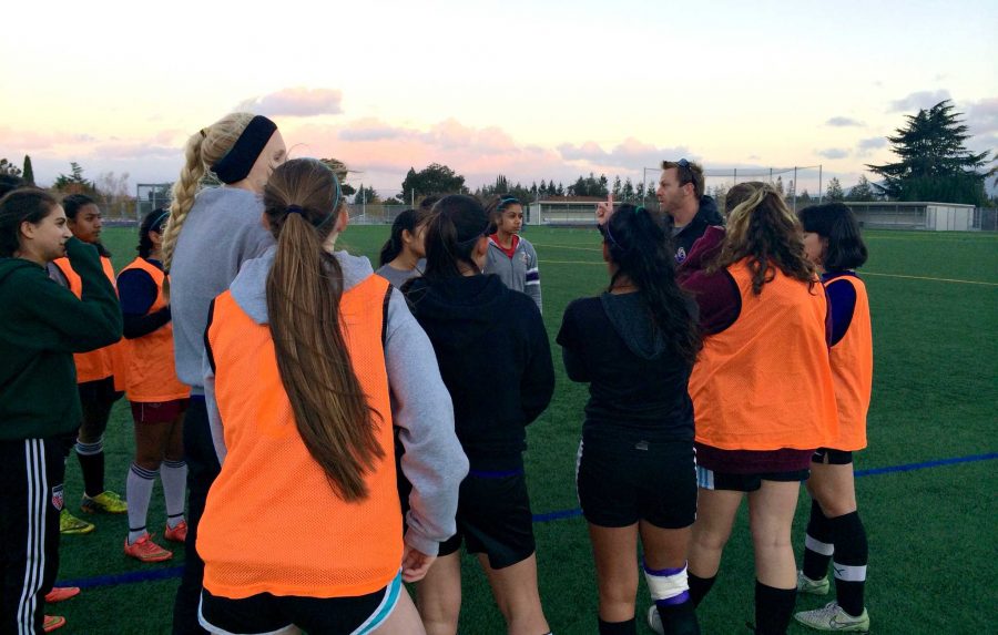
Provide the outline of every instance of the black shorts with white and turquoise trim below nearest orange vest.
{"type": "Polygon", "coordinates": [[[401,575],[380,591],[356,597],[258,593],[231,600],[202,590],[197,619],[210,633],[232,635],[298,633],[295,627],[328,635],[373,633],[385,623],[404,592],[401,575]]]}

